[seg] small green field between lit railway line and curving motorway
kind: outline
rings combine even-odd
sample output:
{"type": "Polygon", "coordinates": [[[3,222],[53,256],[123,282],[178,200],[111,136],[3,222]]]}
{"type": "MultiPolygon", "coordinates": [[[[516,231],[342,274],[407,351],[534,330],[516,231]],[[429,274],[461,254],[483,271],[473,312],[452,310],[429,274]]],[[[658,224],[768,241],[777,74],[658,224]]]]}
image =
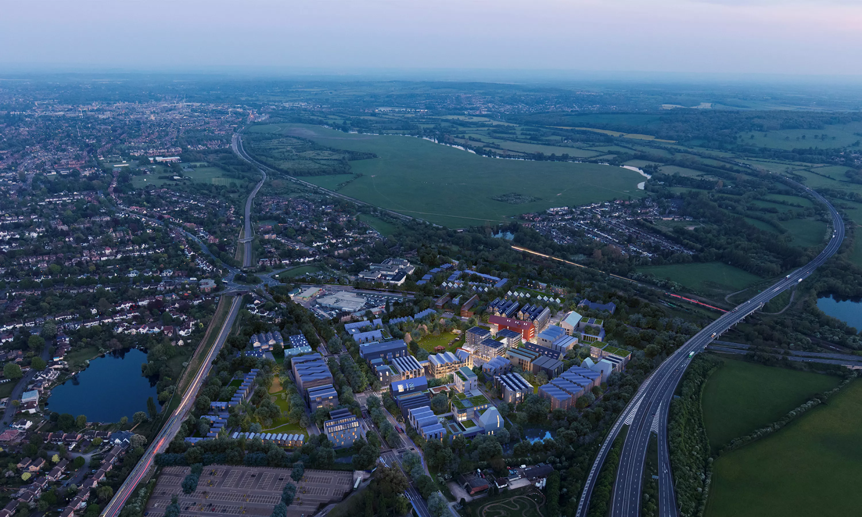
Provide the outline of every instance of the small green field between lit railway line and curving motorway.
{"type": "Polygon", "coordinates": [[[639,273],[670,278],[697,292],[733,292],[745,289],[761,280],[760,277],[723,262],[692,262],[690,264],[647,265],[639,273]]]}

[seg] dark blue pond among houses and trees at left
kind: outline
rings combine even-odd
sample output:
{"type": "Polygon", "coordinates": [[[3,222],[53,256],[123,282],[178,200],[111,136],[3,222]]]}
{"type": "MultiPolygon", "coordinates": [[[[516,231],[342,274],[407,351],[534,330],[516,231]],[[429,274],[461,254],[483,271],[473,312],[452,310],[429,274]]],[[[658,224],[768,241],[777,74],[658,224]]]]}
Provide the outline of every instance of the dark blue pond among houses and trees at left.
{"type": "Polygon", "coordinates": [[[48,411],[74,416],[85,414],[91,422],[116,422],[123,416],[132,420],[138,411],[147,411],[147,398],[159,404],[155,379],[141,376],[147,354],[138,349],[109,352],[90,361],[86,370],[51,390],[48,411]]]}

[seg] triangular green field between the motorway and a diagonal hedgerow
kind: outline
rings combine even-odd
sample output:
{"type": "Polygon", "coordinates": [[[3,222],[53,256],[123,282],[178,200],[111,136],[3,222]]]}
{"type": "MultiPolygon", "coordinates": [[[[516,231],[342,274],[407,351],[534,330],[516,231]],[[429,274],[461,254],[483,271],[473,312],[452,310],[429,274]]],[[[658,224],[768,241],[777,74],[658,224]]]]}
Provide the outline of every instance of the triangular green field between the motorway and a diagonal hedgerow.
{"type": "Polygon", "coordinates": [[[838,377],[724,358],[703,389],[709,445],[717,451],[838,383],[838,377]]]}

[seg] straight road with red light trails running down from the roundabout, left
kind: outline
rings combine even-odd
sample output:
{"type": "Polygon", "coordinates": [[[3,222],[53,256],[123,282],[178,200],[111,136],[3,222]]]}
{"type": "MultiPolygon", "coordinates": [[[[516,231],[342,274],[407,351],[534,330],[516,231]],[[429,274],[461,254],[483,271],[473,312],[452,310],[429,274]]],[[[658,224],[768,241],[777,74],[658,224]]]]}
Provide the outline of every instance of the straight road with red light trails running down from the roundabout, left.
{"type": "Polygon", "coordinates": [[[123,482],[120,489],[116,491],[114,498],[111,499],[108,506],[104,508],[102,517],[116,517],[116,515],[120,514],[120,510],[122,510],[123,505],[126,504],[126,501],[132,495],[134,488],[138,483],[141,483],[141,479],[147,475],[147,471],[153,466],[155,455],[166,449],[167,445],[171,443],[171,440],[177,434],[179,427],[183,425],[183,420],[185,420],[186,414],[189,413],[189,410],[195,403],[197,389],[200,388],[201,383],[203,383],[203,379],[205,379],[209,374],[209,368],[212,366],[215,355],[222,350],[222,345],[224,345],[225,339],[228,339],[228,334],[230,333],[231,327],[234,326],[236,315],[240,313],[241,301],[242,298],[240,296],[234,296],[234,300],[230,304],[228,317],[225,319],[222,324],[222,329],[215,338],[215,344],[209,349],[209,353],[207,353],[206,358],[203,359],[201,369],[197,371],[197,374],[191,380],[189,389],[186,389],[185,395],[179,402],[178,408],[174,410],[171,418],[167,420],[165,426],[161,428],[159,434],[156,435],[155,439],[153,439],[153,443],[150,444],[147,451],[144,452],[144,455],[141,457],[141,460],[138,461],[138,464],[134,465],[134,470],[129,473],[126,481],[123,482]]]}

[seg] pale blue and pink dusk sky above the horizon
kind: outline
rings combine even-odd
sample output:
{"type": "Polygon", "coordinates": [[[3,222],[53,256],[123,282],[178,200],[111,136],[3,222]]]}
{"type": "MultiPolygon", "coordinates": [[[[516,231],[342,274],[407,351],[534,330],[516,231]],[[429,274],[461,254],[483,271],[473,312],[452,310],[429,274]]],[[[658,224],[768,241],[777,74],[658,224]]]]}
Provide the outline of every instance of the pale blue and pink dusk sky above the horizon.
{"type": "Polygon", "coordinates": [[[862,76],[862,0],[22,0],[0,49],[0,72],[862,76]]]}

